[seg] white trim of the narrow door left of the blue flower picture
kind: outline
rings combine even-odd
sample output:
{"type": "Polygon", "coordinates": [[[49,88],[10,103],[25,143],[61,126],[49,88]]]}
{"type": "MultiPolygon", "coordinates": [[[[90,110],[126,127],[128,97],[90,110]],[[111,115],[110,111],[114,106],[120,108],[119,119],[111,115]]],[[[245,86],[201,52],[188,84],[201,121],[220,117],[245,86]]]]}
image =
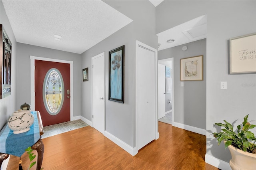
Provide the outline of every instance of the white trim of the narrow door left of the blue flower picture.
{"type": "MultiPolygon", "coordinates": [[[[91,116],[93,115],[93,60],[94,59],[96,59],[96,58],[98,58],[98,57],[101,57],[101,56],[104,56],[104,61],[105,61],[105,52],[102,52],[102,53],[100,53],[100,54],[98,54],[98,55],[95,55],[94,57],[92,57],[92,73],[91,73],[91,77],[92,77],[92,81],[91,81],[91,86],[92,86],[92,91],[91,91],[91,101],[92,101],[92,113],[91,113],[91,116]]],[[[104,65],[104,70],[105,70],[105,65],[104,65]]],[[[106,87],[106,83],[105,83],[105,79],[104,79],[104,87],[106,87]]],[[[106,97],[105,97],[105,93],[106,93],[106,90],[105,90],[105,88],[104,88],[104,101],[105,101],[105,99],[106,99],[106,97]]],[[[104,120],[105,120],[105,102],[104,102],[104,120]]],[[[92,127],[93,127],[93,117],[92,117],[92,127]]],[[[105,121],[104,121],[104,127],[105,127],[105,121]]],[[[104,129],[104,132],[105,132],[105,129],[104,129]]]]}

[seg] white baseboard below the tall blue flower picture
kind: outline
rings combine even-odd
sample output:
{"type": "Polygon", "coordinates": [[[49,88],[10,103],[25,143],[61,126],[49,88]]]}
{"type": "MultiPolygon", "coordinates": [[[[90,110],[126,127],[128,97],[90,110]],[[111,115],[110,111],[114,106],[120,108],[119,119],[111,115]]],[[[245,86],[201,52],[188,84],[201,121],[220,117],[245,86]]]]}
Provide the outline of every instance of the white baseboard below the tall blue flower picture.
{"type": "Polygon", "coordinates": [[[116,136],[110,134],[106,130],[104,131],[104,136],[109,138],[112,142],[114,142],[115,144],[120,146],[122,149],[124,149],[126,152],[128,152],[132,156],[134,156],[134,155],[136,155],[138,153],[138,150],[136,150],[136,148],[132,148],[132,146],[126,144],[125,142],[123,142],[122,140],[120,140],[116,136]]]}

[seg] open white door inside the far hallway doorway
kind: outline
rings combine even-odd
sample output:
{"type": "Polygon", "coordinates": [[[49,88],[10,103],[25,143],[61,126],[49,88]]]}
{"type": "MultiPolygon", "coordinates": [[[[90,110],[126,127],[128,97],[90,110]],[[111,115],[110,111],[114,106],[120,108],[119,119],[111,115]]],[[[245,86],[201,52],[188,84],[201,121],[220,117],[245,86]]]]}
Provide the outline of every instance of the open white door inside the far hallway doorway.
{"type": "Polygon", "coordinates": [[[158,119],[165,116],[165,65],[158,63],[158,119]]]}

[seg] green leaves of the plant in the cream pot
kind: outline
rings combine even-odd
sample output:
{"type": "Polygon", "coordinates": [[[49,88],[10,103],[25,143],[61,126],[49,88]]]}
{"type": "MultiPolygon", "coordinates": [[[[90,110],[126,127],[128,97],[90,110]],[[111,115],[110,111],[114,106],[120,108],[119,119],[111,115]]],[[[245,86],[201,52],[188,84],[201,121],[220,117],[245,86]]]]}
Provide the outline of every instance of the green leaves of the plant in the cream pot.
{"type": "Polygon", "coordinates": [[[221,132],[219,133],[212,133],[215,138],[218,140],[218,145],[222,142],[222,140],[225,141],[225,149],[232,145],[240,150],[243,150],[245,152],[254,153],[256,150],[256,138],[254,136],[254,133],[249,131],[249,129],[252,129],[256,127],[256,125],[251,125],[248,121],[248,115],[244,117],[244,121],[241,125],[237,126],[237,133],[233,131],[233,126],[224,120],[223,123],[215,123],[214,125],[217,125],[222,128],[221,132]]]}

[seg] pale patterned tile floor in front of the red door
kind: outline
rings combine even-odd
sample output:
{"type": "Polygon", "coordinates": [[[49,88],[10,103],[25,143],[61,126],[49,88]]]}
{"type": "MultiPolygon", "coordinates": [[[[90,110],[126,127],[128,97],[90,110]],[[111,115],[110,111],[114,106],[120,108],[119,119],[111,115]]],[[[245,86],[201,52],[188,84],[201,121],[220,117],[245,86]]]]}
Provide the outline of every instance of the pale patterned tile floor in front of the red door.
{"type": "Polygon", "coordinates": [[[89,126],[89,125],[80,119],[75,121],[59,123],[56,125],[46,126],[46,127],[43,127],[44,134],[42,135],[42,139],[50,136],[54,136],[56,134],[68,132],[70,130],[75,130],[77,128],[86,127],[86,126],[89,126]]]}

